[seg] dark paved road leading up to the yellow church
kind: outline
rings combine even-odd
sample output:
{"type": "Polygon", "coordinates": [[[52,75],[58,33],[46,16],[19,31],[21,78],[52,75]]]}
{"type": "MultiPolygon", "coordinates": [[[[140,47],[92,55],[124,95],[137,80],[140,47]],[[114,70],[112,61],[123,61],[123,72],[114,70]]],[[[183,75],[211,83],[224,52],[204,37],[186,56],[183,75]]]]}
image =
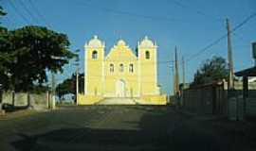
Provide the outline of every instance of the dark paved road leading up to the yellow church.
{"type": "Polygon", "coordinates": [[[251,127],[163,106],[63,107],[0,118],[0,150],[254,150],[251,127]]]}

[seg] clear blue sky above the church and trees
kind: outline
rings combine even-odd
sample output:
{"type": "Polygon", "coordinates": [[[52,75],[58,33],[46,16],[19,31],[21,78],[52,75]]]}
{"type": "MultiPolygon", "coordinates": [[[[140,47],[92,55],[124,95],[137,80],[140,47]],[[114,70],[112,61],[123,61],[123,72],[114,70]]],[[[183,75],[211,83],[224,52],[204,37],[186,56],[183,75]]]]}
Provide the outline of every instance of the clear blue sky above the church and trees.
{"type": "MultiPolygon", "coordinates": [[[[162,92],[173,92],[172,63],[177,46],[178,59],[184,57],[185,76],[193,75],[204,60],[213,56],[227,59],[227,39],[210,43],[227,34],[226,18],[231,28],[256,13],[255,0],[0,0],[8,12],[2,25],[15,29],[24,25],[44,25],[65,33],[70,49],[80,49],[83,72],[83,45],[93,35],[106,43],[106,52],[123,39],[135,50],[137,42],[148,36],[157,42],[158,84],[162,92]],[[189,59],[189,60],[188,60],[189,59]],[[187,61],[188,60],[188,61],[187,61]]],[[[256,17],[231,35],[235,71],[254,64],[251,42],[256,42],[256,17]]],[[[179,64],[181,67],[181,64],[179,64]]],[[[58,82],[75,71],[74,62],[64,66],[57,75],[58,82]]],[[[179,69],[182,79],[181,68],[179,69]]]]}

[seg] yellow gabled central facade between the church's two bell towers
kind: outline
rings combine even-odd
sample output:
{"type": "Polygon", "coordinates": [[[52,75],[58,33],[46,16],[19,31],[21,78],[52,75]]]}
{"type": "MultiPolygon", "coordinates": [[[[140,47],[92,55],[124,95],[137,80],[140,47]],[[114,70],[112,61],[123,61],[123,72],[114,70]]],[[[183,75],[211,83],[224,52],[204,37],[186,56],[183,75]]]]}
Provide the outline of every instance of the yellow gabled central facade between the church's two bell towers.
{"type": "Polygon", "coordinates": [[[124,44],[115,45],[105,59],[105,89],[106,97],[115,96],[117,92],[117,81],[125,83],[125,97],[138,96],[137,57],[132,50],[124,44]],[[110,70],[110,65],[114,70],[110,70]],[[120,65],[123,65],[120,71],[120,65]],[[132,67],[131,67],[132,66],[132,67]],[[133,69],[131,69],[133,68],[133,69]]]}

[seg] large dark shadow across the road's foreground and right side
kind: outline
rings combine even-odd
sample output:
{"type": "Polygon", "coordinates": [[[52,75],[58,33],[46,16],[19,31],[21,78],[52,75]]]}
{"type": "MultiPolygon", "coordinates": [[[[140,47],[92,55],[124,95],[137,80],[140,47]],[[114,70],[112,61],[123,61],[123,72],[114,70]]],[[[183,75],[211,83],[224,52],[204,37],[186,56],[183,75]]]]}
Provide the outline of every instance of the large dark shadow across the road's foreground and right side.
{"type": "MultiPolygon", "coordinates": [[[[188,117],[180,117],[172,109],[159,107],[125,107],[143,111],[138,121],[123,116],[121,125],[137,124],[137,129],[122,128],[61,128],[45,134],[28,136],[12,146],[20,151],[27,150],[230,150],[227,143],[218,140],[212,131],[188,123],[188,117]]],[[[115,117],[113,117],[115,120],[115,117]]]]}

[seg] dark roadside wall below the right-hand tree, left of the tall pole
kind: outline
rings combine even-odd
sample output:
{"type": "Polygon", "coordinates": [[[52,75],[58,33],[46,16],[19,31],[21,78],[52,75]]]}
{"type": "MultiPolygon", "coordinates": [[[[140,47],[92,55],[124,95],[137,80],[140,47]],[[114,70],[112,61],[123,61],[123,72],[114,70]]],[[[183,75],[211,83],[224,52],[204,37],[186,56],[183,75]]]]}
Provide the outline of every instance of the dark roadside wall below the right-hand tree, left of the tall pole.
{"type": "Polygon", "coordinates": [[[185,109],[207,114],[225,114],[228,111],[228,92],[224,83],[215,83],[183,91],[185,109]]]}

